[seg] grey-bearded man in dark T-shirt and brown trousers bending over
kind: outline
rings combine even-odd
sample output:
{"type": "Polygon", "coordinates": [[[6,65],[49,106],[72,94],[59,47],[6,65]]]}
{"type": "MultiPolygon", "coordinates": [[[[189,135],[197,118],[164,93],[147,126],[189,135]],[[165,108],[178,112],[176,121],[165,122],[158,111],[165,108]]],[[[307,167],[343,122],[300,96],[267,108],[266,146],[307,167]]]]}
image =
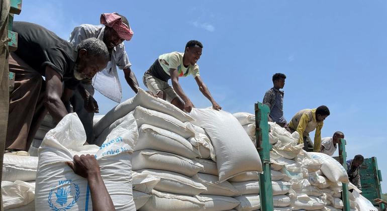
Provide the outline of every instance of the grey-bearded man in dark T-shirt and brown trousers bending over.
{"type": "MultiPolygon", "coordinates": [[[[56,122],[67,115],[63,102],[68,101],[75,88],[86,96],[79,80],[92,78],[104,69],[109,51],[95,38],[73,46],[32,23],[14,22],[13,31],[18,33],[18,50],[9,58],[15,82],[10,92],[6,152],[26,155],[24,151],[28,151],[47,111],[56,122]]],[[[94,101],[88,98],[85,107],[98,112],[94,101]]]]}

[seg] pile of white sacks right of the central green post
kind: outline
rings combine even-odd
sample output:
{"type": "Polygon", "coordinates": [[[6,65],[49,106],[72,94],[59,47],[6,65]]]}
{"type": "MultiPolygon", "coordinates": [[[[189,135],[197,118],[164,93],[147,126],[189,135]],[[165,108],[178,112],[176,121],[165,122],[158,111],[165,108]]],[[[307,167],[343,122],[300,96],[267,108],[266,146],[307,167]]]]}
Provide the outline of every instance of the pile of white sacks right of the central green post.
{"type": "MultiPolygon", "coordinates": [[[[255,133],[254,116],[248,113],[233,115],[251,137],[255,133]]],[[[297,145],[297,132],[291,134],[275,123],[269,125],[269,142],[273,145],[270,152],[273,202],[274,207],[277,206],[274,210],[342,210],[341,182],[349,181],[340,163],[325,154],[307,153],[302,150],[303,144],[297,145]],[[282,186],[274,184],[278,179],[282,186]],[[279,195],[281,192],[278,190],[283,190],[284,195],[279,195]]],[[[255,141],[254,138],[251,140],[255,141]]],[[[235,182],[235,178],[230,180],[234,180],[232,184],[239,189],[248,190],[254,182],[259,188],[258,181],[241,183],[243,178],[237,179],[238,182],[235,182]]],[[[361,206],[356,202],[361,200],[362,204],[369,205],[369,201],[366,203],[364,199],[354,197],[354,194],[350,193],[351,210],[368,210],[362,209],[365,205],[361,206]]]]}

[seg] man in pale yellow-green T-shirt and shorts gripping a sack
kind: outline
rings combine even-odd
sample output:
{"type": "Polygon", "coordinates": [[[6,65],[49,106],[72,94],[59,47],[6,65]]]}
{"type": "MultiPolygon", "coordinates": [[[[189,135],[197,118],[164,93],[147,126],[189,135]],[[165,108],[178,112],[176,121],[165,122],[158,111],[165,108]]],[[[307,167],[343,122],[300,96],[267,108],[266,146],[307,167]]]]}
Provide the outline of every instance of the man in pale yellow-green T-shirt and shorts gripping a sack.
{"type": "Polygon", "coordinates": [[[160,55],[145,72],[144,85],[158,97],[164,100],[168,97],[169,101],[177,108],[191,112],[193,104],[181,88],[179,77],[192,75],[203,95],[211,101],[213,108],[222,109],[200,77],[199,65],[196,63],[202,55],[202,49],[202,43],[191,40],[185,45],[184,53],[172,52],[160,55]],[[169,79],[172,81],[173,88],[168,84],[169,79]]]}

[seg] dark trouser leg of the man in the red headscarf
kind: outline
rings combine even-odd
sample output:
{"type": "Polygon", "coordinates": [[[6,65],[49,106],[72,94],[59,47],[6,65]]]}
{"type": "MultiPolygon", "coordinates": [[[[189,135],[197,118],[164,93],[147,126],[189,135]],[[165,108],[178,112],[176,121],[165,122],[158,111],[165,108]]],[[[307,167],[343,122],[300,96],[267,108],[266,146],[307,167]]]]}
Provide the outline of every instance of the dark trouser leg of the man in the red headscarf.
{"type": "MultiPolygon", "coordinates": [[[[91,94],[91,96],[94,95],[94,87],[92,87],[91,84],[82,85],[91,94]]],[[[82,122],[84,131],[86,132],[87,143],[94,142],[94,133],[92,130],[92,119],[94,117],[94,113],[88,113],[84,109],[84,100],[78,89],[74,90],[70,98],[70,102],[72,104],[73,111],[78,115],[79,120],[82,122]]]]}

